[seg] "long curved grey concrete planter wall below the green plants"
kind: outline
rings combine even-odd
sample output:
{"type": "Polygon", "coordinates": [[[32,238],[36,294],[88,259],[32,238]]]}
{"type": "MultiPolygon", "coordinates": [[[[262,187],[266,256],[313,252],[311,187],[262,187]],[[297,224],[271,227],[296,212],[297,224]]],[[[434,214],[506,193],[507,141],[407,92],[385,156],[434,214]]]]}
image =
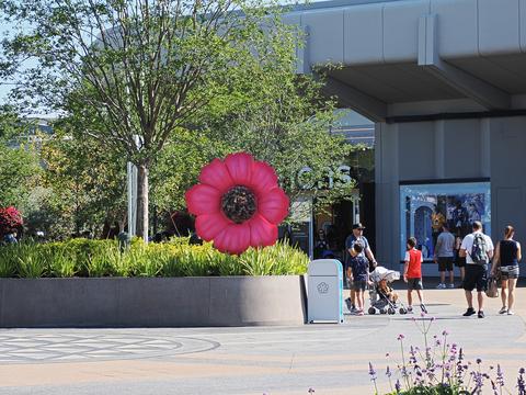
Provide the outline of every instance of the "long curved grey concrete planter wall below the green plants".
{"type": "Polygon", "coordinates": [[[0,279],[0,327],[301,325],[302,275],[0,279]]]}

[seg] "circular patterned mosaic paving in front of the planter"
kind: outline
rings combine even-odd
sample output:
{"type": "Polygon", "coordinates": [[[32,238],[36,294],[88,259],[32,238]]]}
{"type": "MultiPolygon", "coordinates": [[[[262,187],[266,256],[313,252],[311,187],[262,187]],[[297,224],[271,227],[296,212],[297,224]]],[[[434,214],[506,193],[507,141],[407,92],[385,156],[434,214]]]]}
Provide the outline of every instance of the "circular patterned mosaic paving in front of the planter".
{"type": "Polygon", "coordinates": [[[218,342],[140,334],[0,334],[0,363],[89,362],[203,352],[218,342]]]}

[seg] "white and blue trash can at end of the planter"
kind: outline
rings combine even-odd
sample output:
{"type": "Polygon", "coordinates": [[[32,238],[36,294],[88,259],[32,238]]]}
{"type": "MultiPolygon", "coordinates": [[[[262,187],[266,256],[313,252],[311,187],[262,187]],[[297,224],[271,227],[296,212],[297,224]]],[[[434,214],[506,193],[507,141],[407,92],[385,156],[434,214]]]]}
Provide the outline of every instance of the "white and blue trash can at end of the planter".
{"type": "Polygon", "coordinates": [[[308,270],[308,321],[343,323],[343,268],[336,259],[316,259],[308,270]]]}

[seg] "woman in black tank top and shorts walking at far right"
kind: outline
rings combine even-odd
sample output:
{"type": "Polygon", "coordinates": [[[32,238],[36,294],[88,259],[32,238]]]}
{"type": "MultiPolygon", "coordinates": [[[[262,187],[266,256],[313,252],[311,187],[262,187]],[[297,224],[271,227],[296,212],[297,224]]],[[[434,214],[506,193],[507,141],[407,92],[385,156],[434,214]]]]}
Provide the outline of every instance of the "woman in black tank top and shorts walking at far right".
{"type": "Polygon", "coordinates": [[[515,229],[508,225],[504,229],[504,239],[495,247],[495,256],[491,267],[491,275],[500,271],[502,308],[499,314],[513,315],[513,302],[515,301],[515,286],[518,279],[518,262],[522,259],[521,244],[515,241],[515,229]]]}

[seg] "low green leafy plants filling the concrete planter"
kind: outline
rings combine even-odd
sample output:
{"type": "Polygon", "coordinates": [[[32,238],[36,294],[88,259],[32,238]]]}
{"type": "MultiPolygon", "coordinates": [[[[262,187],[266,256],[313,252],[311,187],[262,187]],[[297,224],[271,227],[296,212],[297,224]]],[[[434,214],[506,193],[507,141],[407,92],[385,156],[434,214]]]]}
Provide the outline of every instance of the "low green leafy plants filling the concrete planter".
{"type": "Polygon", "coordinates": [[[203,276],[304,274],[309,258],[286,242],[229,256],[187,238],[164,244],[134,239],[124,251],[114,240],[71,239],[0,247],[2,278],[203,276]]]}

